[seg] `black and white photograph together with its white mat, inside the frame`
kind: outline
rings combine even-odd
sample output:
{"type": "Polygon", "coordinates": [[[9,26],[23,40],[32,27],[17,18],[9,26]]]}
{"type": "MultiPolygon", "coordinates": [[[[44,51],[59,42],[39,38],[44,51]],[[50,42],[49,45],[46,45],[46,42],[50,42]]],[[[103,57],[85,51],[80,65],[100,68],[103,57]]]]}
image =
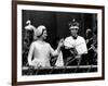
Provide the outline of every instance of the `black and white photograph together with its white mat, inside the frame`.
{"type": "Polygon", "coordinates": [[[103,7],[31,3],[17,3],[18,84],[103,78],[103,7]]]}

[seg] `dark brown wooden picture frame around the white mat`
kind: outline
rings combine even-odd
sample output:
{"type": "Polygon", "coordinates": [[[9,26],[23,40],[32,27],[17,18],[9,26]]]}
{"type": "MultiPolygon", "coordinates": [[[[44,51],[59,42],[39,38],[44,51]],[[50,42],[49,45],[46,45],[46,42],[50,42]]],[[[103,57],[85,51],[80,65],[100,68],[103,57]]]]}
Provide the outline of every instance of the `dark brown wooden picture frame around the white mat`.
{"type": "Polygon", "coordinates": [[[70,4],[70,3],[52,3],[52,2],[36,2],[36,1],[12,1],[12,85],[31,85],[31,84],[50,84],[50,83],[66,83],[66,82],[84,82],[105,79],[105,7],[90,4],[70,4]],[[49,7],[65,7],[65,8],[83,8],[102,10],[102,76],[85,77],[85,78],[66,78],[66,79],[50,79],[50,81],[30,81],[17,82],[17,4],[29,5],[49,5],[49,7]]]}

